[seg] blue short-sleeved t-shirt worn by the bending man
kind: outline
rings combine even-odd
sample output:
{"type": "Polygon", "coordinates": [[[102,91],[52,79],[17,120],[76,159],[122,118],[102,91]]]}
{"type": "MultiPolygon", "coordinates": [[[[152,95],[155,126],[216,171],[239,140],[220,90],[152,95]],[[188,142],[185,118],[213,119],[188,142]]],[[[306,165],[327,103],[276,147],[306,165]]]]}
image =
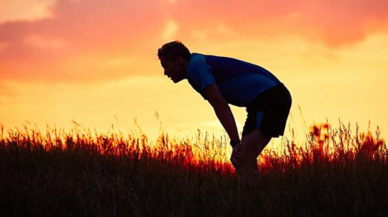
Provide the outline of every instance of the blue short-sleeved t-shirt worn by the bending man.
{"type": "Polygon", "coordinates": [[[189,84],[204,97],[204,88],[217,84],[230,104],[247,107],[258,94],[281,82],[265,68],[233,58],[192,53],[187,65],[189,84]]]}

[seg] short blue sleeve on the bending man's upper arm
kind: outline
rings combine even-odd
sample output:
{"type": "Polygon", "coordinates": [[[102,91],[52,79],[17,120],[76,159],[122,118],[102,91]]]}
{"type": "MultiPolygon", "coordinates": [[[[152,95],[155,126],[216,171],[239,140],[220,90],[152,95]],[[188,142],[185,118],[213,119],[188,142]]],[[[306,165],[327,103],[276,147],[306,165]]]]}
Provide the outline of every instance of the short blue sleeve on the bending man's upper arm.
{"type": "Polygon", "coordinates": [[[205,62],[193,62],[187,67],[187,80],[199,94],[206,99],[204,89],[215,84],[211,66],[205,62]]]}

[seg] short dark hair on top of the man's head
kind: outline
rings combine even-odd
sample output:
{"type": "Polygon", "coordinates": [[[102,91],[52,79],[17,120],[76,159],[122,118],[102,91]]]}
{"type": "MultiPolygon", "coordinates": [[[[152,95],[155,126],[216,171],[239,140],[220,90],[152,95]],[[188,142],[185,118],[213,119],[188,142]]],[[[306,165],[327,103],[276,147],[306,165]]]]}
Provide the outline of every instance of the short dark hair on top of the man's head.
{"type": "Polygon", "coordinates": [[[181,56],[184,60],[189,61],[191,53],[189,49],[179,40],[175,40],[173,42],[168,42],[164,44],[160,49],[158,49],[158,58],[165,57],[167,60],[173,61],[181,56]]]}

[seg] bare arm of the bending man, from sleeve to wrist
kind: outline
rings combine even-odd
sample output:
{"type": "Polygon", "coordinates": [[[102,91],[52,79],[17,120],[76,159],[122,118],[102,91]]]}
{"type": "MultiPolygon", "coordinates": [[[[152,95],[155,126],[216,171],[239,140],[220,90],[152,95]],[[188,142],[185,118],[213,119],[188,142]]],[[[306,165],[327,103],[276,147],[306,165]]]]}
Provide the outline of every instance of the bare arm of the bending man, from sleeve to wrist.
{"type": "Polygon", "coordinates": [[[239,132],[237,131],[236,122],[228,103],[223,99],[221,92],[217,84],[212,84],[204,89],[206,98],[210,105],[215,110],[217,118],[221,122],[221,125],[228,133],[231,141],[240,140],[239,132]]]}

